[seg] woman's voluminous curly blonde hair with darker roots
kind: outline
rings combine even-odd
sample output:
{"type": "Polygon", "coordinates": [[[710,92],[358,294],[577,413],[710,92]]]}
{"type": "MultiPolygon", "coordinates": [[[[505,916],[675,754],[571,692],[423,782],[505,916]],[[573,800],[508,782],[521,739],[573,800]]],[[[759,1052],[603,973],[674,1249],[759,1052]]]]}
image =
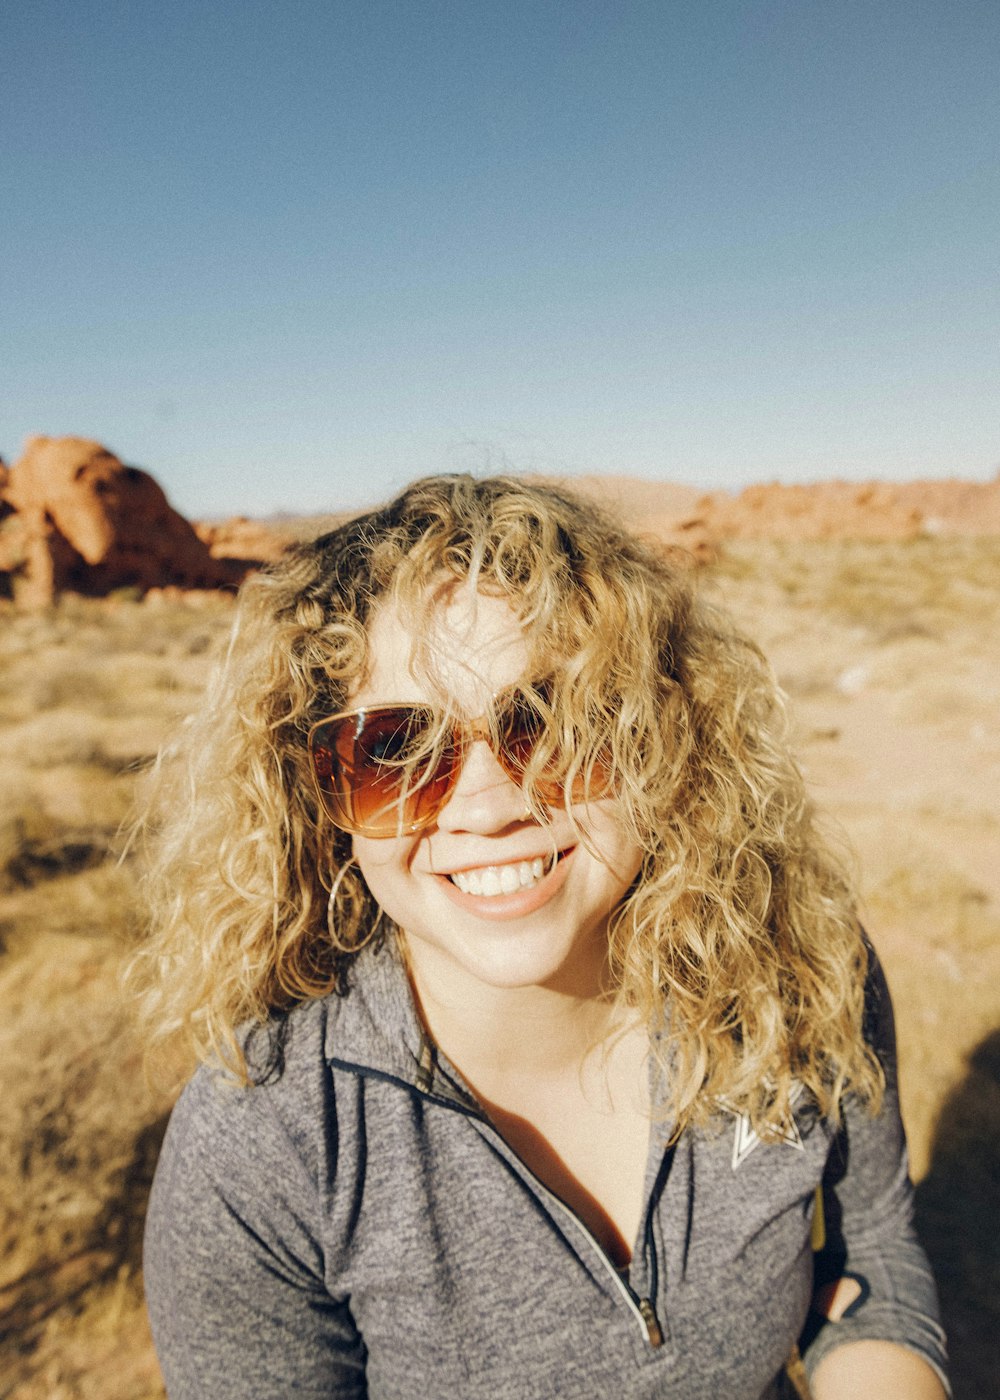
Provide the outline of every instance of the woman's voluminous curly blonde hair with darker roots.
{"type": "MultiPolygon", "coordinates": [[[[324,816],[307,734],[363,678],[373,609],[419,612],[443,580],[508,601],[548,680],[549,742],[574,755],[567,791],[599,764],[644,853],[609,963],[650,1026],[668,1008],[678,1131],[724,1102],[773,1135],[796,1081],[832,1119],[847,1091],[877,1106],[866,944],[761,652],[669,554],[513,477],[419,480],[244,585],[146,820],[154,928],[132,981],[153,1043],[245,1079],[241,1023],[343,990],[378,910],[324,816]]],[[[527,788],[542,811],[531,769],[527,788]]]]}

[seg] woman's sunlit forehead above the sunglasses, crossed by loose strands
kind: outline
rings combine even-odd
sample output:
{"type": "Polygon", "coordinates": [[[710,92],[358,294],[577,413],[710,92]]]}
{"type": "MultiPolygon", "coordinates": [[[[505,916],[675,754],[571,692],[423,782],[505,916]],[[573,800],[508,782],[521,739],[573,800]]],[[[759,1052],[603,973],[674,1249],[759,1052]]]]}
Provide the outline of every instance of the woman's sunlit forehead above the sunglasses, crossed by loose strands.
{"type": "Polygon", "coordinates": [[[413,610],[387,602],[368,623],[368,666],[356,704],[422,700],[482,714],[525,678],[528,644],[504,598],[452,585],[413,610]]]}

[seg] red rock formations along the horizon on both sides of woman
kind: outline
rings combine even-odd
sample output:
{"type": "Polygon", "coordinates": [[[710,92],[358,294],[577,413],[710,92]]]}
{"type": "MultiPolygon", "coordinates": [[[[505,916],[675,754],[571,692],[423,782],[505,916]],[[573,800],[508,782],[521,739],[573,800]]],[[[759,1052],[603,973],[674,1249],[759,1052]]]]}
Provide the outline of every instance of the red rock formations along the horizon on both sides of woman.
{"type": "MultiPolygon", "coordinates": [[[[620,476],[567,484],[695,561],[730,539],[1000,533],[1000,480],[775,483],[738,494],[620,476]]],[[[147,472],[87,438],[32,437],[14,466],[0,462],[0,596],[27,608],[62,592],[234,589],[304,533],[304,521],[192,525],[147,472]]]]}

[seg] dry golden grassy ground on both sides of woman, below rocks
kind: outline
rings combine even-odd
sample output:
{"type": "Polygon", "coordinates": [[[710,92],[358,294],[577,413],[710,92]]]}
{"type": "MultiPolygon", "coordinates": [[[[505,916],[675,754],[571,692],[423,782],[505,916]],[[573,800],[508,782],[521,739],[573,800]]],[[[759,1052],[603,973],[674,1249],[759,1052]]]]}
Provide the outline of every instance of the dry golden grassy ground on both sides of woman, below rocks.
{"type": "MultiPolygon", "coordinates": [[[[955,1394],[979,1400],[1000,1372],[1000,549],[742,545],[709,587],[772,657],[807,776],[859,851],[955,1394]]],[[[167,1105],[116,991],[137,913],[109,853],[228,616],[0,613],[0,1397],[162,1396],[139,1239],[167,1105]]]]}

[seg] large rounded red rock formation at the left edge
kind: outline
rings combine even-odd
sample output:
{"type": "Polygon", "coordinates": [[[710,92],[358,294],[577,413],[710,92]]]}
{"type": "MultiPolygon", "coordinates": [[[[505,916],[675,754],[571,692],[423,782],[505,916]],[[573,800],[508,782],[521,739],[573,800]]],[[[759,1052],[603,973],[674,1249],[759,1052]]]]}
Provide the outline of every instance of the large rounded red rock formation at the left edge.
{"type": "Polygon", "coordinates": [[[6,476],[0,570],[14,575],[24,606],[46,606],[62,591],[232,587],[245,573],[213,559],[154,479],[99,442],[29,438],[6,476]]]}

